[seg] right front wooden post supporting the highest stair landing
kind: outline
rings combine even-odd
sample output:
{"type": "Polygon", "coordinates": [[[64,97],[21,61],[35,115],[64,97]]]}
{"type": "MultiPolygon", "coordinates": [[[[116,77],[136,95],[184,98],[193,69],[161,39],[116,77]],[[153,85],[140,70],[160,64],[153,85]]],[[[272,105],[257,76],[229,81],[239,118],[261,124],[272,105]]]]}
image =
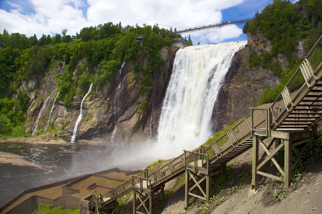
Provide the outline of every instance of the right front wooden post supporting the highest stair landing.
{"type": "Polygon", "coordinates": [[[284,139],[284,188],[289,187],[292,176],[292,140],[284,139]]]}

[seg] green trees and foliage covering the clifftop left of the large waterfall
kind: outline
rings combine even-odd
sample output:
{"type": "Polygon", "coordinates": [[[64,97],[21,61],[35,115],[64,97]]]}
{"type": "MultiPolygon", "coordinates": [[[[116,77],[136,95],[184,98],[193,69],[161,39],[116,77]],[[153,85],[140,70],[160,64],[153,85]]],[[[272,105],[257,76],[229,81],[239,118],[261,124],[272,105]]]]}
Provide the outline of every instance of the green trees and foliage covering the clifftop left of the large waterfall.
{"type": "Polygon", "coordinates": [[[58,100],[63,101],[65,107],[72,104],[75,96],[82,99],[91,83],[99,89],[113,80],[122,63],[136,62],[139,53],[145,53],[148,62],[147,65],[137,63],[137,79],[142,92],[150,91],[152,70],[164,64],[159,51],[171,44],[171,39],[163,38],[159,31],[166,33],[168,30],[146,24],[122,27],[121,23],[108,22],[84,27],[76,36],[66,35],[67,29],[64,29],[63,36],[43,34],[38,40],[36,35],[28,38],[4,30],[0,34],[0,124],[6,128],[0,129],[0,134],[25,134],[22,125],[28,103],[14,97],[17,92],[22,93],[19,92],[22,85],[26,94],[36,90],[41,78],[54,66],[65,67],[64,72],[56,76],[57,91],[60,91],[58,100]],[[138,36],[143,38],[143,45],[137,45],[135,38],[138,36]],[[31,88],[28,87],[30,82],[35,83],[31,88]],[[19,134],[12,132],[13,129],[19,130],[19,134]]]}

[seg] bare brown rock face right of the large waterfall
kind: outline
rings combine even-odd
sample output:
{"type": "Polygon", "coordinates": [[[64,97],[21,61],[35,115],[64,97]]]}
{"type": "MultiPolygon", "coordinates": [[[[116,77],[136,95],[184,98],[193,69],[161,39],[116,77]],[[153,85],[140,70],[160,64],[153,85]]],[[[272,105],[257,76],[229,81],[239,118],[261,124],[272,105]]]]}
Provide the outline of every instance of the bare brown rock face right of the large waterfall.
{"type": "MultiPolygon", "coordinates": [[[[226,75],[226,81],[221,88],[213,111],[212,128],[215,131],[222,130],[231,125],[236,120],[246,117],[251,113],[249,108],[256,107],[261,94],[267,85],[273,88],[279,80],[273,74],[271,68],[262,68],[260,65],[250,68],[248,58],[251,51],[258,55],[265,51],[271,52],[271,41],[257,32],[256,34],[247,33],[248,46],[238,51],[226,75]]],[[[303,42],[298,45],[299,57],[306,56],[303,42]]],[[[272,58],[272,63],[279,60],[283,70],[287,69],[288,60],[283,54],[272,58]]]]}

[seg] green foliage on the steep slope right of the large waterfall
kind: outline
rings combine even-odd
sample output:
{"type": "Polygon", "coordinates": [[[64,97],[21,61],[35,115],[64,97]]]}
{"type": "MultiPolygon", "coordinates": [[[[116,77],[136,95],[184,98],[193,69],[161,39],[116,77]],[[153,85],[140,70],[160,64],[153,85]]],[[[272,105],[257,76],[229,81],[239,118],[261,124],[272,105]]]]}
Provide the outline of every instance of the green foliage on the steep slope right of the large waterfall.
{"type": "Polygon", "coordinates": [[[318,0],[300,0],[294,4],[290,1],[276,0],[266,6],[261,13],[255,14],[255,19],[244,25],[243,32],[262,32],[267,40],[272,42],[271,53],[265,52],[257,55],[251,52],[249,67],[261,65],[263,68],[271,67],[280,83],[271,89],[270,85],[264,90],[259,105],[273,102],[283,90],[291,76],[296,72],[302,62],[293,53],[297,51],[299,40],[309,51],[322,34],[322,2],[318,0]],[[305,15],[304,15],[305,14],[305,15]],[[287,70],[283,71],[277,61],[271,64],[271,57],[284,54],[289,60],[287,70]]]}

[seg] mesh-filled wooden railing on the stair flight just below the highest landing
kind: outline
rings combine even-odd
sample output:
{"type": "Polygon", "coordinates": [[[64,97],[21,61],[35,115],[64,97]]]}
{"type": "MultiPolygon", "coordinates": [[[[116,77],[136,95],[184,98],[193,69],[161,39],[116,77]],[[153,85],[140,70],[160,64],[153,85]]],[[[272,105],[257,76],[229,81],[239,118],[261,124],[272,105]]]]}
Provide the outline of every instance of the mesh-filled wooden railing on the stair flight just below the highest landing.
{"type": "Polygon", "coordinates": [[[230,131],[219,138],[209,147],[201,147],[202,153],[208,155],[211,159],[214,156],[220,156],[221,152],[233,143],[238,142],[251,132],[251,115],[237,123],[230,131]]]}

